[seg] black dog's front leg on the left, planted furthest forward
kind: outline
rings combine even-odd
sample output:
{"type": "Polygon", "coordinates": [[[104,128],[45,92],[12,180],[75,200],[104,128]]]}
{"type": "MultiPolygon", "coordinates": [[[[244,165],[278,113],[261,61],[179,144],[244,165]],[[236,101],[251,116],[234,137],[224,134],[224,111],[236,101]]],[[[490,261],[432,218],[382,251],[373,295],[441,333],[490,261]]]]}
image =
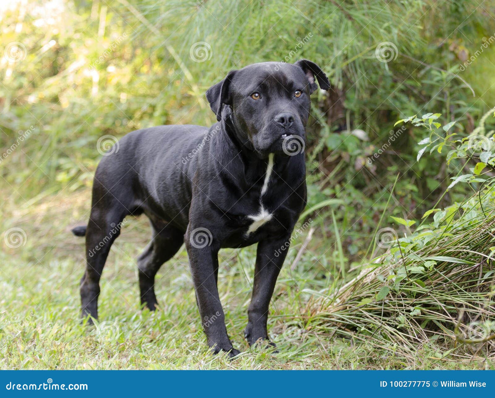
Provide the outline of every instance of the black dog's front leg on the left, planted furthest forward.
{"type": "Polygon", "coordinates": [[[188,228],[185,243],[191,273],[193,275],[201,323],[208,339],[208,346],[213,348],[215,354],[225,351],[228,352],[230,357],[234,357],[240,351],[233,348],[232,342],[227,335],[225,315],[218,296],[216,282],[219,245],[211,237],[198,243],[198,236],[194,236],[195,229],[192,228],[192,231],[190,233],[190,228],[188,228]],[[205,242],[209,244],[205,244],[205,242]]]}

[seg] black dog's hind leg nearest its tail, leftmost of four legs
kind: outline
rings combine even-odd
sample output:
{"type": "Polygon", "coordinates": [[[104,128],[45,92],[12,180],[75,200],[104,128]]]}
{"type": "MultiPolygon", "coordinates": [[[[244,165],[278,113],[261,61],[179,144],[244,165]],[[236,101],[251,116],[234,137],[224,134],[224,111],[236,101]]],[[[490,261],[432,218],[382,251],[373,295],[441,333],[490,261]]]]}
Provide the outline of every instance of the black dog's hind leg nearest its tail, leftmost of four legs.
{"type": "MultiPolygon", "coordinates": [[[[90,221],[86,230],[86,271],[81,279],[81,316],[98,319],[99,280],[110,246],[120,234],[127,210],[111,194],[101,200],[93,196],[90,221]]],[[[92,320],[89,320],[92,323],[92,320]]]]}

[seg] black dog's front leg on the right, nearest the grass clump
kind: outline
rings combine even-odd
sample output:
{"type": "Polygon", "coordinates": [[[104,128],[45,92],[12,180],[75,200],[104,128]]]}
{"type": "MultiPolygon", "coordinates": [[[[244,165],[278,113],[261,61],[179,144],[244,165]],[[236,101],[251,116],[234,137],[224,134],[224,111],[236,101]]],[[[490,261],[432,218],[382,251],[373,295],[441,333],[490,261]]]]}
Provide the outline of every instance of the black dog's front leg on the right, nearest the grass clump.
{"type": "MultiPolygon", "coordinates": [[[[268,306],[272,298],[275,282],[284,264],[289,249],[290,234],[258,243],[256,265],[254,266],[254,285],[251,303],[247,309],[247,327],[244,331],[249,345],[256,341],[266,341],[268,332],[268,306]]],[[[269,343],[275,346],[275,343],[269,343]]]]}

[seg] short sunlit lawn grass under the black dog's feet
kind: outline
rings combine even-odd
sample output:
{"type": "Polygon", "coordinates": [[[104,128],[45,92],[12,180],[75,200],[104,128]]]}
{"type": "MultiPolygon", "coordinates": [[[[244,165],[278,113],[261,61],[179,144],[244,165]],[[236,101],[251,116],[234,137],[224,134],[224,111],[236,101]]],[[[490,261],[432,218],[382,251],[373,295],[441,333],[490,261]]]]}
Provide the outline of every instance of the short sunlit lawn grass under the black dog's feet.
{"type": "Polygon", "coordinates": [[[9,217],[2,218],[2,230],[20,227],[25,232],[20,247],[4,246],[0,254],[2,369],[493,367],[478,358],[456,358],[455,353],[439,357],[438,353],[446,349],[445,342],[418,344],[414,355],[404,355],[400,349],[394,353],[393,344],[378,349],[372,341],[343,339],[316,328],[308,317],[314,292],[327,291],[335,281],[315,261],[313,253],[326,250],[318,238],[313,238],[295,269],[290,270],[305,236],[299,236],[291,248],[272,299],[269,334],[279,353],[250,349],[243,338],[255,248],[221,252],[220,297],[229,335],[243,353],[233,361],[213,356],[200,329],[184,248],[157,275],[159,310],[151,313],[140,309],[135,258],[147,243],[145,218],[130,220],[112,246],[101,279],[99,325],[81,325],[78,285],[84,270],[84,239],[72,236],[69,229],[86,220],[89,190],[40,199],[17,206],[4,213],[9,217]]]}

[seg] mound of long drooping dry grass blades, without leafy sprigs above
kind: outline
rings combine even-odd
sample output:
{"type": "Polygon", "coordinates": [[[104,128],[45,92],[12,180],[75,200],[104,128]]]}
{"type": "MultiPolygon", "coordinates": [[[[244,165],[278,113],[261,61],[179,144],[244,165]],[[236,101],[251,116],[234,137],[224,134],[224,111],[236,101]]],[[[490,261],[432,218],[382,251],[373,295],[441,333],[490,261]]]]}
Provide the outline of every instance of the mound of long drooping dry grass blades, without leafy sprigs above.
{"type": "Polygon", "coordinates": [[[396,240],[353,279],[322,292],[311,306],[312,328],[410,359],[437,341],[440,358],[493,363],[495,215],[492,209],[470,218],[468,207],[443,227],[396,240]]]}

